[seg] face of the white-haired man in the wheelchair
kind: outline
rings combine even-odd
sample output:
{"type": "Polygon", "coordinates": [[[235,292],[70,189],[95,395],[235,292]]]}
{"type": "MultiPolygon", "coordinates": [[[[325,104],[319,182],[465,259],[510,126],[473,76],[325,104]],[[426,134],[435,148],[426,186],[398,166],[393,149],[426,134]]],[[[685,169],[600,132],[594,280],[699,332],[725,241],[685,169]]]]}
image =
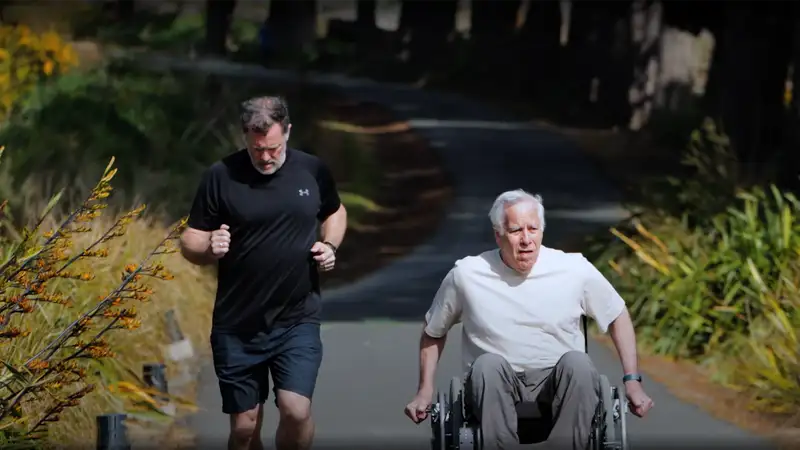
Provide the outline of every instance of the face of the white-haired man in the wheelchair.
{"type": "Polygon", "coordinates": [[[503,261],[527,275],[533,269],[542,244],[541,220],[533,202],[521,202],[506,208],[506,232],[495,233],[503,261]]]}

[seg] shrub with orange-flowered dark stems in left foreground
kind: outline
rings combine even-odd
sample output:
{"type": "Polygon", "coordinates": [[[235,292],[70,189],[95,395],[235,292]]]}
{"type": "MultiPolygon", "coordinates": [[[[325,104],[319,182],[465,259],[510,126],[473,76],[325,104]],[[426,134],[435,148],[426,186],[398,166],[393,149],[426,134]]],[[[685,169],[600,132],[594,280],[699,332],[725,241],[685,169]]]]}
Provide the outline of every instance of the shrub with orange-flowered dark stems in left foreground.
{"type": "Polygon", "coordinates": [[[118,256],[109,251],[109,243],[124,236],[144,210],[144,206],[137,207],[118,216],[107,229],[93,230],[112,191],[110,183],[116,173],[112,165],[113,159],[86,200],[53,229],[41,232],[58,197],[51,200],[32,229],[0,236],[3,448],[45,437],[48,424],[79,405],[95,388],[92,380],[96,377],[90,375],[93,363],[115,356],[114,345],[109,344],[112,332],[141,326],[136,307],[130,303],[146,301],[153,294],[147,280],[173,279],[157,258],[176,252],[174,241],[185,220],[179,221],[144,259],[125,265],[110,290],[93,295],[94,301],[86,301],[85,297],[98,288],[91,284],[96,275],[105,278],[105,274],[96,272],[97,261],[118,256]],[[96,237],[81,238],[92,234],[96,237]],[[76,245],[79,241],[88,244],[76,245]],[[70,317],[69,306],[76,303],[85,309],[70,317]]]}

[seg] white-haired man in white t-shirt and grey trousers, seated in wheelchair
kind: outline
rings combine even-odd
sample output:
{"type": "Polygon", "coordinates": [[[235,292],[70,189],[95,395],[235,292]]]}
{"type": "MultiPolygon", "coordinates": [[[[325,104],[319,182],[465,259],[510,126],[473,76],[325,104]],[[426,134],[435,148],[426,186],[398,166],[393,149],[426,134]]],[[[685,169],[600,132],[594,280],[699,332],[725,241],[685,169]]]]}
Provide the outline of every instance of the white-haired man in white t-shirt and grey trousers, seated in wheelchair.
{"type": "Polygon", "coordinates": [[[519,444],[516,405],[547,405],[548,444],[586,449],[599,402],[599,373],[585,352],[581,320],[610,331],[631,411],[653,407],[638,375],[636,337],[624,300],[580,253],[543,246],[541,197],[522,190],[489,213],[498,249],[458,260],[425,315],[420,379],[406,415],[428,416],[447,332],[463,324],[464,402],[480,423],[483,448],[519,444]]]}

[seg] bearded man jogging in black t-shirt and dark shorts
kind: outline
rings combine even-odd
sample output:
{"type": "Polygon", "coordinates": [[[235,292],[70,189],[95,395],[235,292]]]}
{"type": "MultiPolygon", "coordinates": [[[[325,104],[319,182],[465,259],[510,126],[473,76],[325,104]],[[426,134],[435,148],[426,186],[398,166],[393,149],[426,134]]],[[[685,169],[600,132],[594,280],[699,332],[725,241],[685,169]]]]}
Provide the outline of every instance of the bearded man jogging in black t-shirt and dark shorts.
{"type": "Polygon", "coordinates": [[[282,98],[253,98],[242,109],[246,148],[203,174],[181,250],[193,264],[219,265],[211,347],[228,448],[263,448],[271,373],[276,446],[307,449],[322,362],[318,269],[334,268],[347,212],[327,166],[288,147],[282,98]]]}

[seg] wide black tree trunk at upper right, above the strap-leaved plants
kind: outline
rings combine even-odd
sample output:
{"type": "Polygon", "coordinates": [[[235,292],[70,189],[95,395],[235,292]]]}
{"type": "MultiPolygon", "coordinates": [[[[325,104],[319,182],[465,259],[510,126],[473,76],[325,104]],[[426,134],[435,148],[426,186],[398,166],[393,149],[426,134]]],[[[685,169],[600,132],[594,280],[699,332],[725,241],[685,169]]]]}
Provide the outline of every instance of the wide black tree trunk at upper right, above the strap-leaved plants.
{"type": "Polygon", "coordinates": [[[745,182],[758,181],[786,136],[783,102],[793,3],[737,2],[725,8],[712,67],[709,112],[722,119],[745,182]]]}

